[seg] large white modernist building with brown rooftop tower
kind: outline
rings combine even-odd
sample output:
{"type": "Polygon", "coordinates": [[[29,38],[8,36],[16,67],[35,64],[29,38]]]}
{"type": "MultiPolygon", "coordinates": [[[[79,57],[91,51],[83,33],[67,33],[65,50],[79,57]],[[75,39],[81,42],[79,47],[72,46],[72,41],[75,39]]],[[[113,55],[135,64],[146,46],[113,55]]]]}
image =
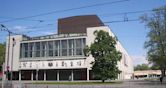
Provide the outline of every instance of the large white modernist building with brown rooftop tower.
{"type": "MultiPolygon", "coordinates": [[[[59,19],[58,34],[37,37],[10,36],[10,44],[7,42],[9,49],[6,47],[5,71],[12,71],[13,80],[94,79],[90,64],[94,58],[91,55],[85,56],[83,50],[94,41],[95,30],[104,30],[114,36],[111,29],[96,15],[59,19]]],[[[118,62],[122,71],[118,79],[130,79],[133,74],[133,61],[119,41],[116,48],[123,55],[118,62]]]]}

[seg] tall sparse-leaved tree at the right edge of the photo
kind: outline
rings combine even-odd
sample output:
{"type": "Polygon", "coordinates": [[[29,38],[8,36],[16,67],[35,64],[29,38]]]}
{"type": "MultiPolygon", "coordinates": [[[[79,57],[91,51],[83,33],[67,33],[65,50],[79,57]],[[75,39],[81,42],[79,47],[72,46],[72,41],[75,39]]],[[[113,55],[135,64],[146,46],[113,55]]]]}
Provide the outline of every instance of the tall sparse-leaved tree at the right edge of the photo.
{"type": "Polygon", "coordinates": [[[158,66],[165,76],[166,70],[166,6],[153,10],[151,15],[141,17],[149,29],[145,48],[150,63],[158,66]]]}

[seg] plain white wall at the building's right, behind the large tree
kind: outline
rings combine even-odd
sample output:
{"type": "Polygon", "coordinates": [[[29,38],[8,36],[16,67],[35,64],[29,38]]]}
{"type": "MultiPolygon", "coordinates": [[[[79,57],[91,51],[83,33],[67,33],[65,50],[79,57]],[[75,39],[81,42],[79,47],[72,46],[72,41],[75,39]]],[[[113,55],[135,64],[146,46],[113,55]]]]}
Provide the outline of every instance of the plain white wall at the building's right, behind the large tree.
{"type": "MultiPolygon", "coordinates": [[[[109,33],[110,36],[115,36],[111,29],[108,26],[101,26],[101,27],[90,27],[87,28],[87,39],[86,39],[86,45],[90,46],[95,39],[94,31],[96,30],[104,30],[109,33]]],[[[122,73],[119,75],[119,79],[130,79],[133,74],[133,61],[132,58],[129,56],[127,51],[123,48],[121,43],[117,41],[116,45],[117,50],[122,52],[122,59],[120,62],[118,62],[118,67],[122,71],[122,73]]],[[[88,68],[91,69],[92,65],[90,64],[92,61],[94,61],[94,58],[90,55],[86,59],[86,63],[88,64],[88,68]]]]}

